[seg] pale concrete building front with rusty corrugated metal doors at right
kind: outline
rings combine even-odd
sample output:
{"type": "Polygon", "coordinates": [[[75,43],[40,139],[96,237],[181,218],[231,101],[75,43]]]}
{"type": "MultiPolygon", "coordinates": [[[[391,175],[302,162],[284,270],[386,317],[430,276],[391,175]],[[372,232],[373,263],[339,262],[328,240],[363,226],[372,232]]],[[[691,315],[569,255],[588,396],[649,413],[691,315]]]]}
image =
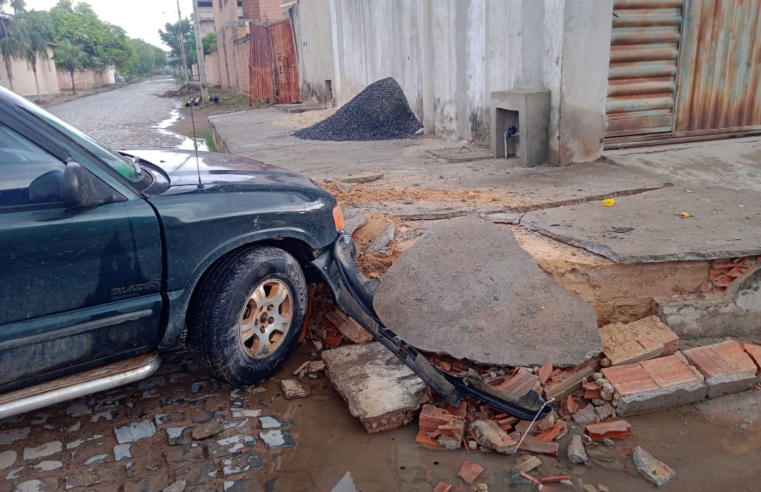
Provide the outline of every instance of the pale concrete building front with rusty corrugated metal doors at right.
{"type": "Polygon", "coordinates": [[[549,162],[761,131],[761,0],[298,0],[302,99],[394,77],[426,132],[488,144],[491,94],[550,91],[549,162]]]}

